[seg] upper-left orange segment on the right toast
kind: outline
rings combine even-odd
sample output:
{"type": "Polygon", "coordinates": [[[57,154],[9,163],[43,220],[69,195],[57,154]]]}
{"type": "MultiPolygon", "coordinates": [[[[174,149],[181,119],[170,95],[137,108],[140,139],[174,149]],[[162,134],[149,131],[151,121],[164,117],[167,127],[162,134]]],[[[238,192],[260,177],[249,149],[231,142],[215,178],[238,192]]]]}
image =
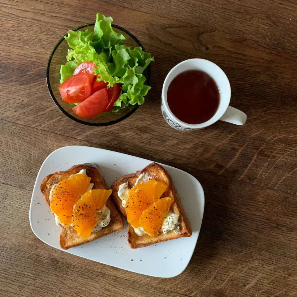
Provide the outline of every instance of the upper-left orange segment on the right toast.
{"type": "Polygon", "coordinates": [[[125,204],[127,221],[134,227],[139,227],[142,212],[153,204],[168,186],[162,181],[154,179],[134,186],[129,191],[129,198],[125,204]]]}

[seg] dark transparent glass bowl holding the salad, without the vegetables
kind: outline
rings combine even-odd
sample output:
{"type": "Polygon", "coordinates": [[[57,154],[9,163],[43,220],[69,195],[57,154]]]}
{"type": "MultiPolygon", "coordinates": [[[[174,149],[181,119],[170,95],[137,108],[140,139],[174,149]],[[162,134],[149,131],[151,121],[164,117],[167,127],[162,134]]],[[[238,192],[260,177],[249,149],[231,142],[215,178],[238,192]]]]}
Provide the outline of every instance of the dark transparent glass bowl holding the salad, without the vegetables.
{"type": "MultiPolygon", "coordinates": [[[[86,29],[89,29],[91,32],[94,32],[94,25],[95,23],[84,24],[73,29],[73,31],[85,31],[86,29]]],[[[129,31],[114,24],[111,24],[111,26],[113,27],[115,32],[121,32],[124,35],[126,40],[124,40],[123,43],[125,45],[132,47],[141,46],[142,50],[145,51],[141,42],[129,31]]],[[[65,36],[67,36],[67,34],[65,36]]],[[[129,117],[136,111],[136,109],[139,107],[138,104],[127,106],[123,110],[119,110],[117,113],[101,113],[94,118],[81,118],[80,116],[75,114],[72,111],[72,108],[75,105],[64,102],[58,90],[58,87],[60,85],[60,68],[62,64],[65,64],[67,62],[66,56],[68,49],[68,43],[64,39],[64,37],[62,37],[52,50],[46,67],[46,82],[49,89],[49,94],[63,114],[67,115],[68,118],[71,118],[75,122],[81,124],[89,126],[108,126],[123,121],[125,118],[129,117]]],[[[143,74],[146,77],[146,84],[149,85],[151,78],[150,65],[145,69],[143,74]]]]}

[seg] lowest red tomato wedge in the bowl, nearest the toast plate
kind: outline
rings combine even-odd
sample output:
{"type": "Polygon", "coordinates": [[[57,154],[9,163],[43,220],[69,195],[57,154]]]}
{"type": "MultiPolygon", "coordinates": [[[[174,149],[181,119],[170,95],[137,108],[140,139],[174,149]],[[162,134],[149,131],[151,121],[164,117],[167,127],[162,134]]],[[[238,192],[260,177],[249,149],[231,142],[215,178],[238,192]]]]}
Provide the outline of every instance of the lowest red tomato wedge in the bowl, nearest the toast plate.
{"type": "Polygon", "coordinates": [[[82,118],[93,118],[100,114],[108,103],[106,89],[101,89],[88,97],[84,102],[72,108],[82,118]]]}

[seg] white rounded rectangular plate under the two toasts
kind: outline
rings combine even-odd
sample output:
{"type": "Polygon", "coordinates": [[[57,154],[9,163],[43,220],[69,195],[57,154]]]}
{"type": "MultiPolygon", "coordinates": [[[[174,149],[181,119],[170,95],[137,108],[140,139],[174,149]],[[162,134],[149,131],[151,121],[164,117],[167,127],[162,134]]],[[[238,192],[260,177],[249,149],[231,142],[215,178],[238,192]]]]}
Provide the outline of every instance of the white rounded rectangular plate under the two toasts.
{"type": "MultiPolygon", "coordinates": [[[[135,173],[151,162],[139,157],[85,146],[57,149],[45,159],[37,175],[30,205],[32,231],[43,242],[62,250],[59,245],[61,228],[55,224],[40,191],[41,182],[48,174],[67,170],[76,164],[96,163],[107,186],[110,187],[116,179],[125,174],[135,173]]],[[[201,184],[192,175],[171,166],[161,165],[174,181],[192,226],[191,237],[131,249],[127,243],[127,222],[124,219],[123,230],[65,252],[156,277],[170,278],[182,273],[191,260],[198,239],[204,211],[204,192],[201,184]]]]}

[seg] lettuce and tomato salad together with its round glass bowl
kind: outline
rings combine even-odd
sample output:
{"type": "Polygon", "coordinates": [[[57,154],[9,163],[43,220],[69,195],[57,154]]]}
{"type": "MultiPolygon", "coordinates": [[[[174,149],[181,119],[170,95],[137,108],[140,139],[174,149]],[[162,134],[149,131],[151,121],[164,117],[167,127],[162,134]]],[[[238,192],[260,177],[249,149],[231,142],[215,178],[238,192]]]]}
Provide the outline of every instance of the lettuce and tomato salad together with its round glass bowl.
{"type": "Polygon", "coordinates": [[[154,58],[135,36],[112,22],[97,13],[95,24],[68,31],[49,59],[49,92],[64,114],[81,123],[119,122],[144,103],[150,89],[154,58]]]}

